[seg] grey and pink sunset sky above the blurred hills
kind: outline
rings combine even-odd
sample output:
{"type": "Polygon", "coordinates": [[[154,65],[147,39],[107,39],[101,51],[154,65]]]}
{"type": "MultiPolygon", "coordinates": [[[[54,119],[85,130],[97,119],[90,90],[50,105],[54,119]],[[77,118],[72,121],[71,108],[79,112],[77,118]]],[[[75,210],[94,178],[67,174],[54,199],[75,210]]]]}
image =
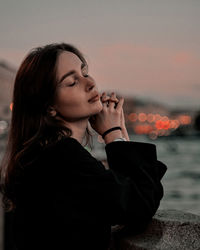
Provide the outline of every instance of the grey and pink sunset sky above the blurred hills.
{"type": "Polygon", "coordinates": [[[200,109],[200,0],[1,0],[0,60],[76,45],[99,90],[200,109]]]}

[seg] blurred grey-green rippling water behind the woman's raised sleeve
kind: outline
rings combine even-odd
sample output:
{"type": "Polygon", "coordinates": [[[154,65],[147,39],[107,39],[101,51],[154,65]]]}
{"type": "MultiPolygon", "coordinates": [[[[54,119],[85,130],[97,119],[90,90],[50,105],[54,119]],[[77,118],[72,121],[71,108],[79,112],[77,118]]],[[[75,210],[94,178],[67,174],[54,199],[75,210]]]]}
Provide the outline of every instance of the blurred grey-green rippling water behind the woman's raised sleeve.
{"type": "MultiPolygon", "coordinates": [[[[132,141],[154,143],[158,160],[168,170],[162,179],[164,197],[160,209],[177,209],[200,215],[200,137],[165,137],[152,141],[146,136],[131,135],[132,141]]],[[[95,143],[92,154],[106,157],[105,144],[95,143]]]]}

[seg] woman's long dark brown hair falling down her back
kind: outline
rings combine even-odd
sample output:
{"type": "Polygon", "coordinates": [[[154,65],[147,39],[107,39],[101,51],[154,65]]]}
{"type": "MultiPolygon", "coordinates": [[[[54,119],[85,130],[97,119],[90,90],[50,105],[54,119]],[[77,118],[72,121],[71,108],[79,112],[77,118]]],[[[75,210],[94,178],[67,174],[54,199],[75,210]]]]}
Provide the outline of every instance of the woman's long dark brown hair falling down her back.
{"type": "MultiPolygon", "coordinates": [[[[76,54],[87,64],[82,53],[73,45],[54,43],[32,49],[16,74],[8,144],[0,170],[0,191],[6,210],[15,208],[14,179],[20,171],[21,157],[38,142],[47,146],[63,136],[72,135],[63,121],[48,112],[55,98],[57,58],[63,51],[76,54]]],[[[88,127],[85,137],[84,146],[89,144],[91,147],[92,134],[88,127]]]]}

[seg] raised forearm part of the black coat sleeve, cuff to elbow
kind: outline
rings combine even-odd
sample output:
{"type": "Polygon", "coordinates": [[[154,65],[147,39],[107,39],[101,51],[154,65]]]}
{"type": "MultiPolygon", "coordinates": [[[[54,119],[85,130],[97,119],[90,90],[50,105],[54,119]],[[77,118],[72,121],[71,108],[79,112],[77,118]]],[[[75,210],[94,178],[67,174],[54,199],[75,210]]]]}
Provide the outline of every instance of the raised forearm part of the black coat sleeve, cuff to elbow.
{"type": "Polygon", "coordinates": [[[111,171],[124,183],[121,195],[126,200],[122,202],[125,212],[124,221],[122,219],[120,224],[132,224],[139,230],[149,222],[160,205],[163,197],[161,179],[167,167],[157,160],[154,144],[118,141],[107,144],[105,149],[111,171]]]}

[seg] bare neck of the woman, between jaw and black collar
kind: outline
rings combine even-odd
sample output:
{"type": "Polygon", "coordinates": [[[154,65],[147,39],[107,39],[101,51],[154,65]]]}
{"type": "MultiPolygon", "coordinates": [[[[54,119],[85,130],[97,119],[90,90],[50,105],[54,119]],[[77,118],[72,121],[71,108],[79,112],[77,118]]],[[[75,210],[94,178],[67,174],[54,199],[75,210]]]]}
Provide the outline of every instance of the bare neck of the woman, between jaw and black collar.
{"type": "Polygon", "coordinates": [[[71,137],[75,138],[80,144],[83,143],[87,125],[88,125],[88,119],[76,122],[66,122],[66,126],[72,130],[71,137]]]}

